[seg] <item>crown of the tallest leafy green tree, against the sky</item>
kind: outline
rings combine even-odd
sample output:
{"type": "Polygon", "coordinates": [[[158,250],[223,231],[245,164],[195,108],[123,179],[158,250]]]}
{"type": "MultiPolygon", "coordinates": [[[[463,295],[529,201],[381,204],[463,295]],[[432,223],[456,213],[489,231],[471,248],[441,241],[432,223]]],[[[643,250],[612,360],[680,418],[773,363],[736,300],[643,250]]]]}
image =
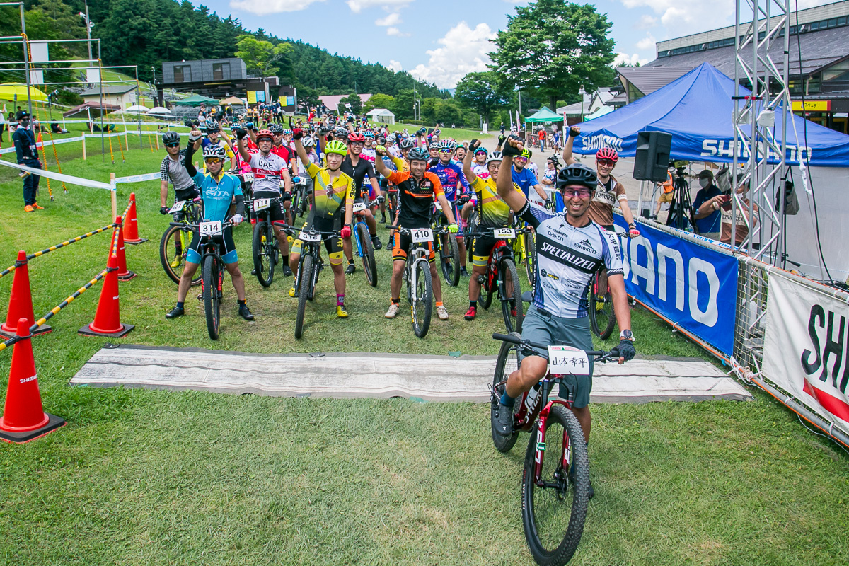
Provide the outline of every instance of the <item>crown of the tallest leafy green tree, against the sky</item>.
{"type": "Polygon", "coordinates": [[[616,42],[612,24],[591,4],[537,0],[516,7],[493,40],[492,70],[521,91],[536,92],[554,109],[565,93],[610,84],[616,42]]]}

